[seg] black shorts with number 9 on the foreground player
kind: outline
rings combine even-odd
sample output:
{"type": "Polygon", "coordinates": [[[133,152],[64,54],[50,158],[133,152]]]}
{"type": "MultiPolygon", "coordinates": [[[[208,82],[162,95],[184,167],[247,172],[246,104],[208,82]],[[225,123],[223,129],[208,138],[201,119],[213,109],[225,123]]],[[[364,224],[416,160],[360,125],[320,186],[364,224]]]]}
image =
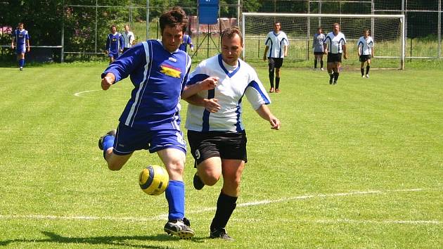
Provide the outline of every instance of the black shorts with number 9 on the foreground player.
{"type": "Polygon", "coordinates": [[[207,158],[236,159],[248,162],[246,132],[195,132],[188,130],[189,147],[195,167],[207,158]]]}

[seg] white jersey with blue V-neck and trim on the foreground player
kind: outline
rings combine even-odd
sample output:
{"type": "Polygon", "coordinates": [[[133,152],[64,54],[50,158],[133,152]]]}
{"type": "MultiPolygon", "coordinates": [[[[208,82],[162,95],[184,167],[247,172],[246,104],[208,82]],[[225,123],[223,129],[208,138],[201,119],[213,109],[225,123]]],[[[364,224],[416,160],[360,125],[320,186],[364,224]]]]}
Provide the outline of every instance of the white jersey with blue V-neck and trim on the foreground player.
{"type": "Polygon", "coordinates": [[[217,98],[221,109],[210,113],[204,106],[188,105],[186,129],[195,132],[242,132],[243,96],[246,96],[252,108],[257,110],[263,104],[271,103],[257,72],[238,59],[234,67],[224,63],[221,54],[203,60],[188,77],[188,85],[200,82],[207,77],[219,77],[215,89],[200,91],[202,98],[217,98]]]}

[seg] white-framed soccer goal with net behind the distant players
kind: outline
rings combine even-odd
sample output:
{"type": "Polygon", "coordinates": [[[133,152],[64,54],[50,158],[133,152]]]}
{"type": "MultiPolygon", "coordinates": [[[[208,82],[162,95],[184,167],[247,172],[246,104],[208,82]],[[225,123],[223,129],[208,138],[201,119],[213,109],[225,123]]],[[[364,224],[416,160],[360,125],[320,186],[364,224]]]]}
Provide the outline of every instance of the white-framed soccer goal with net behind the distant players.
{"type": "MultiPolygon", "coordinates": [[[[404,15],[243,13],[242,17],[243,58],[248,61],[262,60],[264,39],[274,29],[274,23],[279,22],[290,43],[285,63],[306,66],[303,62],[314,60],[312,42],[317,28],[322,27],[326,35],[332,31],[333,23],[339,23],[347,40],[348,59],[343,60],[344,67],[359,66],[357,41],[364,30],[369,30],[375,44],[371,68],[404,69],[404,15]]],[[[323,60],[326,62],[326,58],[323,60]]]]}

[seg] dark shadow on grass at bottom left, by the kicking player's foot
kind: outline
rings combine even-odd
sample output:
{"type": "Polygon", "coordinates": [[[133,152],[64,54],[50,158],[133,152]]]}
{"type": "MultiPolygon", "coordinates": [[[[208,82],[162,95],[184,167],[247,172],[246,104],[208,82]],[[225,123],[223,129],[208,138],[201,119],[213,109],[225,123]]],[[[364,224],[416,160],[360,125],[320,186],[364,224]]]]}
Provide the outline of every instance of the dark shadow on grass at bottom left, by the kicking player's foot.
{"type": "MultiPolygon", "coordinates": [[[[90,245],[108,245],[108,246],[130,246],[131,248],[170,248],[158,245],[140,245],[139,243],[130,243],[130,241],[179,241],[178,237],[167,234],[158,234],[156,236],[98,236],[98,237],[65,237],[50,231],[41,231],[49,238],[41,239],[11,239],[0,241],[0,246],[6,246],[11,243],[65,243],[65,244],[90,244],[90,245]]],[[[192,242],[201,243],[202,239],[192,238],[192,242]]]]}

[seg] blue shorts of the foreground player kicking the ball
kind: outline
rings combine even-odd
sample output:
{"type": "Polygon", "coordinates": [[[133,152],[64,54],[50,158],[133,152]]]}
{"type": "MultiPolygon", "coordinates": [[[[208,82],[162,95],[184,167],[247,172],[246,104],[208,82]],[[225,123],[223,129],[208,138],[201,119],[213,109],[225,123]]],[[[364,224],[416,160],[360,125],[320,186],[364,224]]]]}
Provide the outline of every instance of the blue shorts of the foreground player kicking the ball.
{"type": "Polygon", "coordinates": [[[178,129],[141,130],[122,125],[117,127],[113,153],[129,155],[134,151],[149,150],[150,153],[165,148],[177,148],[186,153],[186,142],[183,133],[178,129]]]}

